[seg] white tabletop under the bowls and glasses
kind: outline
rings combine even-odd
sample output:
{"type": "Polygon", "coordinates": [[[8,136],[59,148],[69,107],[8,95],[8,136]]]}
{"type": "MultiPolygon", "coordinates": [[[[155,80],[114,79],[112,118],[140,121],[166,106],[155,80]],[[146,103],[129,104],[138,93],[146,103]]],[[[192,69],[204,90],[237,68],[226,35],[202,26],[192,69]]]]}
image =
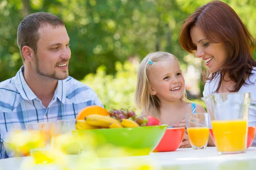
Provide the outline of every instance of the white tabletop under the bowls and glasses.
{"type": "MultiPolygon", "coordinates": [[[[70,169],[74,170],[79,170],[77,168],[79,161],[82,169],[111,167],[113,170],[127,170],[125,167],[130,167],[129,169],[136,170],[136,166],[148,165],[156,170],[256,170],[256,147],[250,147],[246,153],[232,155],[218,155],[215,147],[207,147],[205,150],[185,148],[175,152],[123,158],[95,159],[92,156],[67,156],[67,160],[70,169]]],[[[0,160],[0,170],[47,169],[61,170],[56,164],[35,165],[31,157],[0,160]]]]}

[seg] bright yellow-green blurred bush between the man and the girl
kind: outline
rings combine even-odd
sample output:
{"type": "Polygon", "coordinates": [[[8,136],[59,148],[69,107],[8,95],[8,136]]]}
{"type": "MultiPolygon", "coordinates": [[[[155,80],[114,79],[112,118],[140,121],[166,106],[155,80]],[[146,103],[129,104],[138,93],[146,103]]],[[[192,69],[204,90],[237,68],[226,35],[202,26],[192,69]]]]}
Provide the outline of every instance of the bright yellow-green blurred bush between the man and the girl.
{"type": "Polygon", "coordinates": [[[105,109],[132,109],[134,107],[134,92],[137,83],[137,61],[119,61],[115,64],[116,74],[107,75],[106,67],[100,66],[96,74],[90,73],[82,83],[90,86],[99,96],[105,109]]]}

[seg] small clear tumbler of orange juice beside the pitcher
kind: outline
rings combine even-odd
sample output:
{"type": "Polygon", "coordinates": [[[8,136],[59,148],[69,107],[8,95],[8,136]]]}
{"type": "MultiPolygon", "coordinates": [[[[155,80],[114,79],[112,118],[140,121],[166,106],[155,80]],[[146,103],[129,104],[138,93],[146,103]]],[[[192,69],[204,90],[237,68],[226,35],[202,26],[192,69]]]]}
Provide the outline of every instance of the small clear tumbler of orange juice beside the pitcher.
{"type": "Polygon", "coordinates": [[[209,113],[186,114],[186,128],[192,148],[205,149],[209,139],[209,113]]]}

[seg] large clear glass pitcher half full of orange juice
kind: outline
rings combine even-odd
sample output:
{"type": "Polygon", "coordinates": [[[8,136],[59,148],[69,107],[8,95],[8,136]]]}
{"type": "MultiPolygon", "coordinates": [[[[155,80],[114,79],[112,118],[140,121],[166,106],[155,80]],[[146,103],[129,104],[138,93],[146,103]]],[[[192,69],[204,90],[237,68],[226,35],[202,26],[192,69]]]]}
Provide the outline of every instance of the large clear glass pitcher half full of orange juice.
{"type": "Polygon", "coordinates": [[[210,112],[218,154],[244,153],[250,93],[217,93],[203,98],[210,112]]]}

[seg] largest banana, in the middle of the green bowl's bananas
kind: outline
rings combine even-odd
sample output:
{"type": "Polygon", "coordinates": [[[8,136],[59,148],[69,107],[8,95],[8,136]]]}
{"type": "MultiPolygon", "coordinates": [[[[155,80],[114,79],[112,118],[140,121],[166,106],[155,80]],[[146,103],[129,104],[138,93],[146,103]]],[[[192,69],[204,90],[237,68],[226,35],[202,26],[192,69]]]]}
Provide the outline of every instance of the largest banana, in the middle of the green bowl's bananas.
{"type": "Polygon", "coordinates": [[[88,115],[85,117],[85,120],[88,124],[98,127],[109,128],[109,124],[111,123],[116,123],[121,126],[120,122],[116,119],[103,115],[88,115]]]}

